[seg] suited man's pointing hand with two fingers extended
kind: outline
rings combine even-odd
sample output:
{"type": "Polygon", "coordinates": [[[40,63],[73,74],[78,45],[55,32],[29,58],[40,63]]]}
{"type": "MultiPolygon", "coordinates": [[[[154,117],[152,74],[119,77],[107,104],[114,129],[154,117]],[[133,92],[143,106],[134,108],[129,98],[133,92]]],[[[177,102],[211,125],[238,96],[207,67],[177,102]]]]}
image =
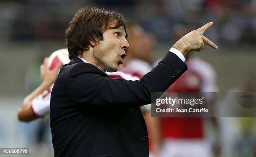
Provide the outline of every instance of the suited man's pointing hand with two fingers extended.
{"type": "Polygon", "coordinates": [[[209,22],[197,30],[189,32],[187,35],[179,39],[179,41],[177,41],[172,47],[181,51],[184,56],[189,51],[201,51],[204,49],[205,44],[217,49],[218,46],[203,35],[205,30],[210,28],[212,24],[212,22],[209,22]]]}

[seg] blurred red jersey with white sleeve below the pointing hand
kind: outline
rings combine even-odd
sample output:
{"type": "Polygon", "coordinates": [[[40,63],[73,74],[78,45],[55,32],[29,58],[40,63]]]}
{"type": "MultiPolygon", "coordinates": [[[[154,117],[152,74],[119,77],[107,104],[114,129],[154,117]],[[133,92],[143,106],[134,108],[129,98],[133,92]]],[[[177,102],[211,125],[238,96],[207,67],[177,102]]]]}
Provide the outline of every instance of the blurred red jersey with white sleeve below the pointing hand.
{"type": "MultiPolygon", "coordinates": [[[[188,70],[167,89],[168,92],[216,92],[216,74],[212,66],[200,58],[187,60],[188,70]]],[[[203,138],[202,118],[161,118],[164,138],[203,138]]]]}

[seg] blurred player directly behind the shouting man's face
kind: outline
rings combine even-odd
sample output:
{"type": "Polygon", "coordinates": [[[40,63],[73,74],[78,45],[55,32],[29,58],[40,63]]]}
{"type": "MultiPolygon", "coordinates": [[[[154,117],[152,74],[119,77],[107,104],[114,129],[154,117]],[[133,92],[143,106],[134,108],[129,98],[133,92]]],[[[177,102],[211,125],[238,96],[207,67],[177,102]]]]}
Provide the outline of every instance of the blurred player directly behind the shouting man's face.
{"type": "Polygon", "coordinates": [[[127,49],[128,55],[125,57],[119,71],[142,77],[152,69],[151,59],[154,50],[154,38],[136,23],[129,23],[128,29],[130,47],[127,49]]]}

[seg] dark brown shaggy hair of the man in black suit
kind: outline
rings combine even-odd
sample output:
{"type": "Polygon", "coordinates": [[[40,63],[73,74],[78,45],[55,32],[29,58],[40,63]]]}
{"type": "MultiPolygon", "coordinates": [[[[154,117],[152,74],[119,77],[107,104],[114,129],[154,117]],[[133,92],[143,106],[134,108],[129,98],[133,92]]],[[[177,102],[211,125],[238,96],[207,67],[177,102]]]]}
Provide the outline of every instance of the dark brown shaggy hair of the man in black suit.
{"type": "Polygon", "coordinates": [[[123,26],[127,37],[127,24],[122,14],[95,7],[79,9],[65,31],[69,59],[89,50],[91,45],[89,41],[102,41],[104,30],[120,26],[123,26]],[[115,26],[111,27],[113,23],[115,26]]]}

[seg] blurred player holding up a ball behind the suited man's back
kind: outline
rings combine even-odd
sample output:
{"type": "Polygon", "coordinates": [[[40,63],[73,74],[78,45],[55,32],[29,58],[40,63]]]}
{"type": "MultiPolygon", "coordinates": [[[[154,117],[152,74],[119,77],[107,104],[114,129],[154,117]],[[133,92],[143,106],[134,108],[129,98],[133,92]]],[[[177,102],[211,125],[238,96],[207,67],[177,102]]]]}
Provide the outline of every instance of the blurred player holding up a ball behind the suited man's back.
{"type": "Polygon", "coordinates": [[[49,113],[51,90],[59,69],[70,61],[67,56],[68,51],[64,48],[44,59],[44,63],[40,66],[42,83],[23,100],[18,111],[20,121],[29,122],[49,113]]]}

